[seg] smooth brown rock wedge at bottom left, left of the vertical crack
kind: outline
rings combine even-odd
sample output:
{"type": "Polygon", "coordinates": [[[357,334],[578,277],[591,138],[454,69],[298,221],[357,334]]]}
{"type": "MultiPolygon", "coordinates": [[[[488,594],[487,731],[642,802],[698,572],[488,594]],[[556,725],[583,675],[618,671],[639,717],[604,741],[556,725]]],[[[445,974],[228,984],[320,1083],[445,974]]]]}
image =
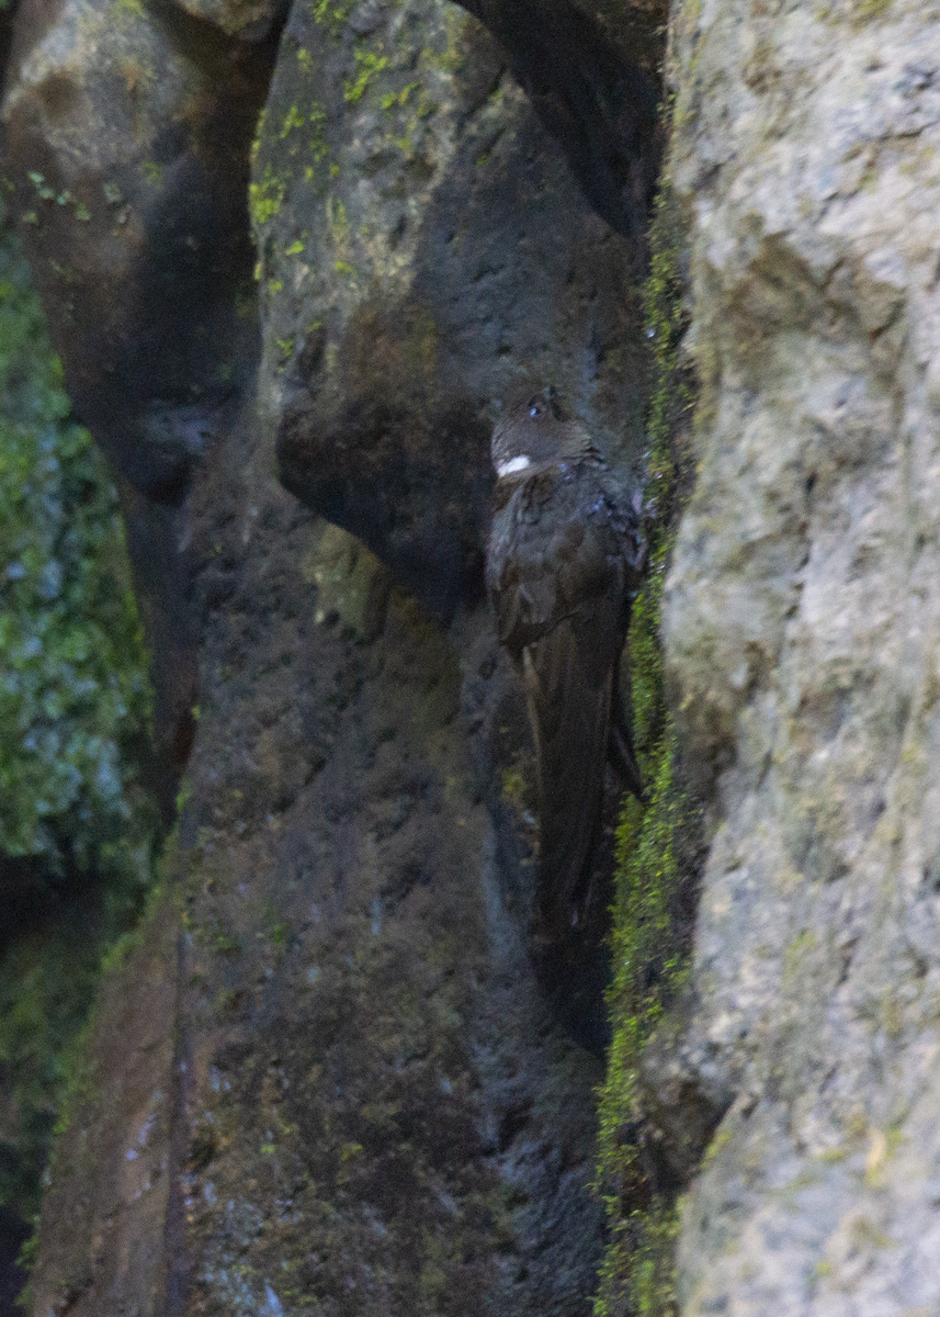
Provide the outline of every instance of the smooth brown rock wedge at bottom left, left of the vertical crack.
{"type": "Polygon", "coordinates": [[[166,1312],[178,947],[176,911],[163,900],[146,921],[141,944],[103,989],[90,1052],[72,1085],[72,1119],[43,1197],[42,1250],[30,1291],[37,1317],[166,1312]]]}

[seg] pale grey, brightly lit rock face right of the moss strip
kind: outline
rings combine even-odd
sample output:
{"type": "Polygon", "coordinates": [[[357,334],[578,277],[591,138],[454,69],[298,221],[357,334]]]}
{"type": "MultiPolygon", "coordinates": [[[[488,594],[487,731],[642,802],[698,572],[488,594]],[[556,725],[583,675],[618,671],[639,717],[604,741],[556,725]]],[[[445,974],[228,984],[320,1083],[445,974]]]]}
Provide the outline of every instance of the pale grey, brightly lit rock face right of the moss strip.
{"type": "Polygon", "coordinates": [[[686,5],[699,481],[665,637],[712,793],[683,1312],[940,1304],[940,11],[686,5]]]}

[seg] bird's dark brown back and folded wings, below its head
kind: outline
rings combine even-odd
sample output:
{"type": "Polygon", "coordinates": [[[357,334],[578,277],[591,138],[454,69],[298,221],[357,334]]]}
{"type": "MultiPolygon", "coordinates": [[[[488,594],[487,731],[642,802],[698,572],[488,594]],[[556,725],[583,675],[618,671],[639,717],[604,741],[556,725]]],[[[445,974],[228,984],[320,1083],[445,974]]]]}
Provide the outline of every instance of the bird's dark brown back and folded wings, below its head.
{"type": "MultiPolygon", "coordinates": [[[[535,922],[548,940],[570,930],[587,896],[629,607],[621,535],[586,475],[503,491],[487,554],[499,639],[525,672],[538,766],[535,922]]],[[[628,781],[642,789],[639,773],[628,781]]]]}

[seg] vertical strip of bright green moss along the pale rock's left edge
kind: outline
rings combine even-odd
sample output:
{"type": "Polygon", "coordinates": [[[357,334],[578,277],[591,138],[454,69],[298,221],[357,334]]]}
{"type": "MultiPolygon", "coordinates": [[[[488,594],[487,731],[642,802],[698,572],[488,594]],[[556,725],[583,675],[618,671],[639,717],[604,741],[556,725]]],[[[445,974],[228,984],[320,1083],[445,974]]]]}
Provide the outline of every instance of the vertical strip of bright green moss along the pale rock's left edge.
{"type": "Polygon", "coordinates": [[[633,606],[628,637],[633,728],[649,803],[624,803],[617,831],[611,935],[614,979],[608,989],[612,1042],[600,1090],[598,1184],[607,1205],[611,1242],[594,1300],[595,1317],[675,1312],[673,1202],[653,1197],[639,1150],[627,1130],[642,1125],[637,1076],[642,1050],[681,992],[689,972],[689,894],[694,873],[685,859],[698,811],[678,769],[675,730],[664,695],[660,612],[666,562],[682,497],[683,457],[677,435],[691,404],[675,356],[681,328],[679,223],[667,190],[650,234],[648,332],[657,361],[650,400],[648,498],[657,508],[649,573],[633,606]],[[639,1202],[646,1204],[642,1209],[639,1202]]]}

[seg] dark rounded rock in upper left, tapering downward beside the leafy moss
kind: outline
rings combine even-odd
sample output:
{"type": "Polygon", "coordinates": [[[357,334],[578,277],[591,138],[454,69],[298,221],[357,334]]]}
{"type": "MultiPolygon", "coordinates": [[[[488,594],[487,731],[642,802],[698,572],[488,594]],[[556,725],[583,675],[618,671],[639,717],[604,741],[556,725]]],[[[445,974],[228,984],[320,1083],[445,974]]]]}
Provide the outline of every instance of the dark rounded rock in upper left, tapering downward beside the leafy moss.
{"type": "Polygon", "coordinates": [[[117,475],[155,731],[176,773],[192,743],[197,641],[179,506],[257,353],[246,157],[270,26],[258,17],[244,29],[254,40],[234,41],[137,0],[28,3],[7,70],[11,211],[76,414],[117,475]]]}

